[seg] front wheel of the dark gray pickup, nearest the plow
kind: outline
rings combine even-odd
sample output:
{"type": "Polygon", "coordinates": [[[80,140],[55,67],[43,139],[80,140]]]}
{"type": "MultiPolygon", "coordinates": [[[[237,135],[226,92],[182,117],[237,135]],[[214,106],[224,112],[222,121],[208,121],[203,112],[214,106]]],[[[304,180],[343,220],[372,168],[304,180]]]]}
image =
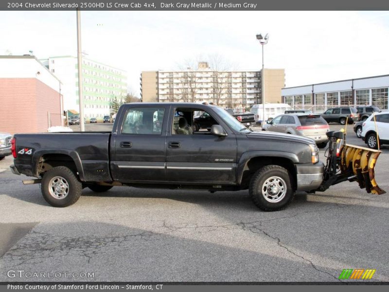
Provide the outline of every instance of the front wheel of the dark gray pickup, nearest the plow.
{"type": "Polygon", "coordinates": [[[295,190],[291,182],[292,177],[284,167],[279,165],[266,165],[253,174],[248,192],[251,200],[261,210],[278,211],[284,209],[293,201],[295,190]],[[267,185],[274,184],[275,187],[283,187],[283,191],[280,189],[273,196],[268,193],[264,194],[263,190],[265,189],[265,192],[267,192],[268,189],[265,185],[266,183],[267,185]],[[282,193],[280,194],[280,192],[282,193]]]}

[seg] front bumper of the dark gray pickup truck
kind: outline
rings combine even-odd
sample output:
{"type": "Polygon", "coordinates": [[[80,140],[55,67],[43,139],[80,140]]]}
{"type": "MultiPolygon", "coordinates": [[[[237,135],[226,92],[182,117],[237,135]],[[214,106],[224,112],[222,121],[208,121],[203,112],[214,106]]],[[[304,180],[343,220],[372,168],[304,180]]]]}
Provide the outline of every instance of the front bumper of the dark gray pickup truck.
{"type": "Polygon", "coordinates": [[[324,164],[297,164],[297,190],[314,191],[323,182],[324,164]]]}

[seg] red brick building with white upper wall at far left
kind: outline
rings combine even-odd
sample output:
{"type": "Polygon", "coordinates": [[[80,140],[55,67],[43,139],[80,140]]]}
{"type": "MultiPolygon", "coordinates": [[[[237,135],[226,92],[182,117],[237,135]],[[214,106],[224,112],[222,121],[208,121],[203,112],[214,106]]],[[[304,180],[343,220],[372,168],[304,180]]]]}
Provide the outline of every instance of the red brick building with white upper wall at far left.
{"type": "Polygon", "coordinates": [[[0,132],[61,126],[60,81],[35,56],[0,56],[0,132]]]}

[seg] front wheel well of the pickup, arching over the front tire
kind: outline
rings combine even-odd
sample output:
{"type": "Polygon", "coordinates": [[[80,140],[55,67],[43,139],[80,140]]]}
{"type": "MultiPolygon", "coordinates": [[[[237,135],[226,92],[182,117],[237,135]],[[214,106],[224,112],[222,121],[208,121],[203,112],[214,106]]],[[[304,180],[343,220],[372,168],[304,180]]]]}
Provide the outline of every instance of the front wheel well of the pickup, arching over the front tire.
{"type": "Polygon", "coordinates": [[[296,189],[296,182],[297,182],[297,174],[296,174],[296,168],[293,162],[287,158],[282,157],[254,157],[251,158],[245,165],[245,168],[243,169],[243,176],[242,176],[242,182],[241,187],[242,189],[247,189],[248,185],[250,183],[250,179],[252,175],[260,168],[262,168],[265,165],[279,165],[288,170],[288,172],[292,175],[293,181],[291,182],[293,185],[293,188],[296,189]]]}

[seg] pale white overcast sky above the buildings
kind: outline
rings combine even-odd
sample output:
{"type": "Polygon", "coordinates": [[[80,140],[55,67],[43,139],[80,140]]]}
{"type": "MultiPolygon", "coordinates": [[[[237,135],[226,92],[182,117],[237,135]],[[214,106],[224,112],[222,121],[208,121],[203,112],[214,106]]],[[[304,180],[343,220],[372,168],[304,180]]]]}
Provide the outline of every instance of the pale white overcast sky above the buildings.
{"type": "MultiPolygon", "coordinates": [[[[0,55],[77,55],[76,12],[1,11],[0,55]]],[[[139,95],[140,73],[219,55],[236,70],[260,70],[256,34],[268,33],[265,68],[286,87],[389,73],[389,12],[81,12],[82,50],[123,69],[139,95]]]]}

